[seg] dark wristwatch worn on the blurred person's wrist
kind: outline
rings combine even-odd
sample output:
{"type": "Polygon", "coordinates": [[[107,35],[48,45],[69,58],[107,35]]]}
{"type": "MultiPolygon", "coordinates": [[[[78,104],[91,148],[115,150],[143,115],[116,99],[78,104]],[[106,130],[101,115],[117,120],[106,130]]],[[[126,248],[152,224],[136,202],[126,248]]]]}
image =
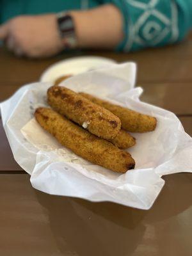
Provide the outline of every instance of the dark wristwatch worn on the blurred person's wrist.
{"type": "Polygon", "coordinates": [[[65,49],[77,48],[77,38],[74,20],[67,12],[60,12],[57,15],[58,29],[65,49]]]}

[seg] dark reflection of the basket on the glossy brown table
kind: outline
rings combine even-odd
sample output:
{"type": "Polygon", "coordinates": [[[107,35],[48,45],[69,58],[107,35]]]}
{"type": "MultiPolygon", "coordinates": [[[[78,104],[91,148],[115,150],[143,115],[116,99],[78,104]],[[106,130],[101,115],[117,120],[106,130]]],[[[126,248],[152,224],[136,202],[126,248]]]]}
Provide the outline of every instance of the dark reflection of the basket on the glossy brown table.
{"type": "Polygon", "coordinates": [[[63,255],[129,255],[145,232],[139,223],[146,211],[38,191],[36,196],[47,210],[52,234],[63,255]]]}

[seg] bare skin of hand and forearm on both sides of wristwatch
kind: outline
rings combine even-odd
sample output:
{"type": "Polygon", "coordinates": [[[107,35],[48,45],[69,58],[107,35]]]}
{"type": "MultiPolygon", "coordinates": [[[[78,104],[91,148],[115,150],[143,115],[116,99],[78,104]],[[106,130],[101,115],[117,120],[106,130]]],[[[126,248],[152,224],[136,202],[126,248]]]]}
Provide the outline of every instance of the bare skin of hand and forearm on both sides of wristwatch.
{"type": "MultiPolygon", "coordinates": [[[[122,40],[122,16],[113,4],[69,12],[74,19],[77,47],[113,49],[122,40]]],[[[44,57],[63,49],[56,15],[19,16],[0,26],[0,40],[17,55],[44,57]]]]}

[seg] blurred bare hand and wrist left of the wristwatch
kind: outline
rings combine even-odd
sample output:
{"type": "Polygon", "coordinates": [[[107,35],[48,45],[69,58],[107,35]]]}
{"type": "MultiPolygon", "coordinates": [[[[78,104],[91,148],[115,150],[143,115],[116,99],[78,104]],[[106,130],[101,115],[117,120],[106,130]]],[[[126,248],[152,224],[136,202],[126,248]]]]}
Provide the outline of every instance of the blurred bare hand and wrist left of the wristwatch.
{"type": "Polygon", "coordinates": [[[63,49],[54,14],[11,19],[0,26],[0,40],[18,56],[52,56],[63,49]]]}

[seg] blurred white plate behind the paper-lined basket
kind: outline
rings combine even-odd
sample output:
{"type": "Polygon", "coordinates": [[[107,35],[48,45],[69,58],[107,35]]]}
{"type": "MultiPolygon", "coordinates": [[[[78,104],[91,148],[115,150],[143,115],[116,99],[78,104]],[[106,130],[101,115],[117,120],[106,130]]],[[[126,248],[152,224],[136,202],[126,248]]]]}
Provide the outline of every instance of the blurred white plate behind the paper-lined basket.
{"type": "Polygon", "coordinates": [[[70,58],[59,61],[47,68],[40,77],[40,81],[53,82],[60,76],[76,75],[94,68],[106,67],[113,63],[115,63],[114,60],[95,56],[70,58]]]}

